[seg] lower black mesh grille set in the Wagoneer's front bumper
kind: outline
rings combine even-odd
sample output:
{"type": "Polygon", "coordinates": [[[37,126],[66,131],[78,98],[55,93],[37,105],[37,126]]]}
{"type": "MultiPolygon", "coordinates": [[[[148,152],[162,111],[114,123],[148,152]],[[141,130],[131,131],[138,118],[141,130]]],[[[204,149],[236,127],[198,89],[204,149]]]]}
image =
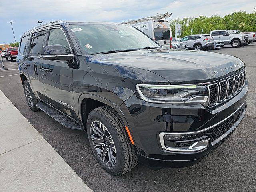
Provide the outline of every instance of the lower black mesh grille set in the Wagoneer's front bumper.
{"type": "Polygon", "coordinates": [[[242,106],[236,113],[237,114],[236,119],[234,119],[236,114],[233,114],[222,123],[204,132],[204,135],[208,135],[211,142],[215,141],[224,133],[226,133],[230,128],[232,128],[232,126],[236,123],[236,121],[242,116],[243,111],[244,111],[244,106],[242,106]]]}

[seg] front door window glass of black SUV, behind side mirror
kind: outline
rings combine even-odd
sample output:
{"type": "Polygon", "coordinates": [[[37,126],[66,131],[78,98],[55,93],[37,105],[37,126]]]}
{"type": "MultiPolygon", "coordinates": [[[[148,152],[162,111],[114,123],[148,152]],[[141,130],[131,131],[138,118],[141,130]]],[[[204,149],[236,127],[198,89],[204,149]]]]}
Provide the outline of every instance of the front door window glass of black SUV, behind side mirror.
{"type": "Polygon", "coordinates": [[[67,53],[71,54],[66,36],[59,28],[50,30],[48,45],[63,45],[67,53]]]}

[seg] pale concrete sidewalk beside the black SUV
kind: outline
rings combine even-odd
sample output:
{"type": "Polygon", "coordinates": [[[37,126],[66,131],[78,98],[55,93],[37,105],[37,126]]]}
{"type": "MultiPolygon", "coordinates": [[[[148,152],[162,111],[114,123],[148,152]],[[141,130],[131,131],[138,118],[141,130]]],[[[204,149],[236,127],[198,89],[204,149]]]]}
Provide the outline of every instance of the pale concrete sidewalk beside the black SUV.
{"type": "Polygon", "coordinates": [[[0,91],[0,191],[91,192],[0,91]]]}

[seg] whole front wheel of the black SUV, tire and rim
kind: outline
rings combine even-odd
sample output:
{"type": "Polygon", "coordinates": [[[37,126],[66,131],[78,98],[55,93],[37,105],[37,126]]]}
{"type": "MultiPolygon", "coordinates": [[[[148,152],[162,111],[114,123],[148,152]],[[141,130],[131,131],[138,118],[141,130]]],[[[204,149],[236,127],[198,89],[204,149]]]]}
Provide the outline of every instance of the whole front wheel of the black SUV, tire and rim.
{"type": "Polygon", "coordinates": [[[104,170],[120,176],[138,164],[124,123],[114,109],[102,106],[92,110],[88,115],[86,127],[94,156],[104,170]]]}

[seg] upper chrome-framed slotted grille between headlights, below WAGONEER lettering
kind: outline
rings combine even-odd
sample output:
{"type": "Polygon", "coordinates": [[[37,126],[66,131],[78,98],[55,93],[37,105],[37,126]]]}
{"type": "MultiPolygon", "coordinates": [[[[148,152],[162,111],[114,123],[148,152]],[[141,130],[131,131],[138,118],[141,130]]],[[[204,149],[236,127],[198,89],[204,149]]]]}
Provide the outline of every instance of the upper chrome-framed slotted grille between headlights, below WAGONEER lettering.
{"type": "Polygon", "coordinates": [[[237,94],[238,91],[242,90],[242,87],[245,84],[245,80],[246,70],[243,70],[238,75],[208,85],[208,104],[210,106],[214,106],[217,102],[224,102],[225,99],[228,99],[232,95],[237,94]]]}

